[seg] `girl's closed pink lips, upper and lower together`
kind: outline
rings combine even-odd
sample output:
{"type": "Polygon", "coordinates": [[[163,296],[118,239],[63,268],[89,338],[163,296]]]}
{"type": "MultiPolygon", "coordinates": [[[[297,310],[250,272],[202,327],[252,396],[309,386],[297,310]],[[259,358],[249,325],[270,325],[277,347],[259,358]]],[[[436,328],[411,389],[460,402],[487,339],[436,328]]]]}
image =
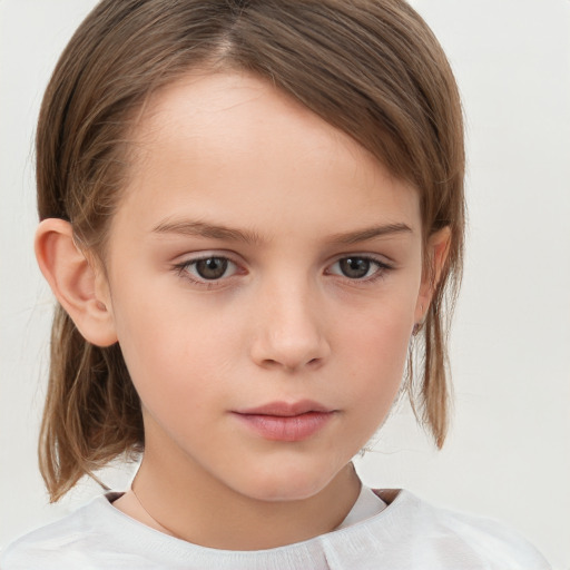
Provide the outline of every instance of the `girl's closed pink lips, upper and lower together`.
{"type": "Polygon", "coordinates": [[[233,413],[239,422],[266,440],[295,442],[318,433],[335,412],[317,402],[303,400],[271,402],[233,413]]]}

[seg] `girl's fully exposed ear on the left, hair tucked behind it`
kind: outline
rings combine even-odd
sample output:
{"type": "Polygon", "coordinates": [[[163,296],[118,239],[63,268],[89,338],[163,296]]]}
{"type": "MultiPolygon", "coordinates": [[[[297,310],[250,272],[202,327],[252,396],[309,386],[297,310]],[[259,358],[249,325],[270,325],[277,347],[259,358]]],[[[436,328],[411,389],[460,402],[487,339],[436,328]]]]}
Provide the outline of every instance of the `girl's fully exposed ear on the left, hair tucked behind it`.
{"type": "Polygon", "coordinates": [[[41,273],[81,335],[97,346],[117,342],[107,279],[76,245],[71,224],[41,222],[35,249],[41,273]]]}

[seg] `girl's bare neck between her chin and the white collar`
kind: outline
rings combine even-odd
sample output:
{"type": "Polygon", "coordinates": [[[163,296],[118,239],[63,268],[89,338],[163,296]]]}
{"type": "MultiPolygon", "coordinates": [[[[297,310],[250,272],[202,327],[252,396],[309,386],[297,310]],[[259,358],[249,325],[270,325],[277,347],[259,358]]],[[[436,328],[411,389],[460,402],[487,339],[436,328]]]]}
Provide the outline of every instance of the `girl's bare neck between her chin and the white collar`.
{"type": "Polygon", "coordinates": [[[136,495],[130,491],[116,507],[161,532],[208,548],[264,550],[330,532],[350,512],[361,488],[350,463],[309,498],[263,501],[212,480],[191,462],[183,462],[184,469],[173,462],[165,468],[161,455],[147,445],[134,481],[136,495]]]}

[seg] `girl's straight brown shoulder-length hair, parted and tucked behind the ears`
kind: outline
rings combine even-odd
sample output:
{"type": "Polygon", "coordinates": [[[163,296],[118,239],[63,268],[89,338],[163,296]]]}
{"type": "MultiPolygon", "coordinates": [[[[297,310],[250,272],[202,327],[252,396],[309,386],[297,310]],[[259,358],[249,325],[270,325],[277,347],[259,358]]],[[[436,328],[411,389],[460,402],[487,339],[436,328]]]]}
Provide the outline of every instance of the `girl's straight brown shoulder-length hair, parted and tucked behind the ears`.
{"type": "MultiPolygon", "coordinates": [[[[460,97],[438,40],[403,0],[104,0],[65,49],[42,101],[40,219],[70,222],[80,247],[104,259],[137,116],[150,95],[197,67],[271,81],[416,188],[424,244],[450,229],[404,382],[441,448],[446,331],[462,271],[464,149],[460,97]]],[[[90,344],[57,305],[39,443],[51,500],[142,450],[140,401],[119,345],[90,344]]]]}

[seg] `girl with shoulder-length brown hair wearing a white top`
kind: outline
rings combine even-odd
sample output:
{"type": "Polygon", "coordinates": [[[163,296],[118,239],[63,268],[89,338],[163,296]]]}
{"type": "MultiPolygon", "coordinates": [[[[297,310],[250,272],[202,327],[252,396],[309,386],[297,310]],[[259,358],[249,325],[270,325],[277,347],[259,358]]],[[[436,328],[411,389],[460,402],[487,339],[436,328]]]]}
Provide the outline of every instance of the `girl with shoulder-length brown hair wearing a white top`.
{"type": "Polygon", "coordinates": [[[461,108],[407,4],[106,0],[37,155],[42,475],[141,463],[2,569],[547,568],[351,463],[401,389],[445,439],[461,108]]]}

